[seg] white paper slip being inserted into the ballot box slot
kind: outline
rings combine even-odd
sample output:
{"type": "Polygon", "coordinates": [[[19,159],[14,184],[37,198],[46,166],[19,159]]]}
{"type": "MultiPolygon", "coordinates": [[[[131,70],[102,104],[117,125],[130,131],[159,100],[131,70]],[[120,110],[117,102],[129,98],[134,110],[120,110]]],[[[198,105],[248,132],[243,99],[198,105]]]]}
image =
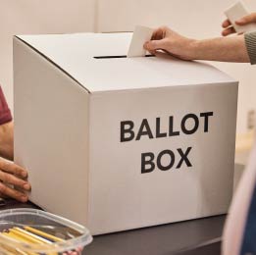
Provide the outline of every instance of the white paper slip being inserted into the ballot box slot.
{"type": "Polygon", "coordinates": [[[128,49],[128,58],[143,57],[146,50],[143,44],[152,37],[153,29],[146,26],[136,26],[128,49]]]}

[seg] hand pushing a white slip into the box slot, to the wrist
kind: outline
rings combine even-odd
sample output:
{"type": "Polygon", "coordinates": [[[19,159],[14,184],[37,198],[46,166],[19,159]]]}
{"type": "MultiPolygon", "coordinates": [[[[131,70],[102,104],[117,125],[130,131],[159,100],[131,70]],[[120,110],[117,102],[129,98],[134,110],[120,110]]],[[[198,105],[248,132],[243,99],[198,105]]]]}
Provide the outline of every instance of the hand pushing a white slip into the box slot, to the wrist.
{"type": "Polygon", "coordinates": [[[157,28],[144,48],[153,55],[162,50],[182,60],[193,60],[193,44],[195,40],[184,37],[167,26],[157,28]]]}

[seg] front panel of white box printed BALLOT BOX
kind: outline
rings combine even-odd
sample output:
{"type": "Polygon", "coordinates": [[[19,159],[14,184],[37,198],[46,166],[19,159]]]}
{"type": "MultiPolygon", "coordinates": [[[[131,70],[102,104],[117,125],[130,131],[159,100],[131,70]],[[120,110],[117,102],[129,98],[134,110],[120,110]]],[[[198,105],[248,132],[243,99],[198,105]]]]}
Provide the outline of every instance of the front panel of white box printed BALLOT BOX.
{"type": "Polygon", "coordinates": [[[91,231],[227,213],[236,107],[236,82],[92,95],[91,231]],[[150,173],[142,174],[142,166],[150,173]]]}

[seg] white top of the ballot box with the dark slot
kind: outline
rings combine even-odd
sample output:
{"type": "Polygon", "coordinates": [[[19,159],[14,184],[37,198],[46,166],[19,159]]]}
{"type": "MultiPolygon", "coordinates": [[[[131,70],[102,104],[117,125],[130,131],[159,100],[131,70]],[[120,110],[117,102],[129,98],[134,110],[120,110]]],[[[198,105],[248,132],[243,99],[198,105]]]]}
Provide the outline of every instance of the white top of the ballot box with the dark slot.
{"type": "Polygon", "coordinates": [[[90,92],[234,81],[218,69],[200,62],[156,57],[125,58],[130,32],[17,37],[90,92]]]}

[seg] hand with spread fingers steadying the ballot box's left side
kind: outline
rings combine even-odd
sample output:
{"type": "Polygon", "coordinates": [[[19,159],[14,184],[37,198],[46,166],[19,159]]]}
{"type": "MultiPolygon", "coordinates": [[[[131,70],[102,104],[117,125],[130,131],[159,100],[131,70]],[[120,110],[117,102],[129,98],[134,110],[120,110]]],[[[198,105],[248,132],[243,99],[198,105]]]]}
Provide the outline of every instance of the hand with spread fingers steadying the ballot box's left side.
{"type": "Polygon", "coordinates": [[[26,180],[27,172],[13,162],[0,158],[0,196],[12,197],[26,202],[26,192],[31,186],[26,180]]]}

